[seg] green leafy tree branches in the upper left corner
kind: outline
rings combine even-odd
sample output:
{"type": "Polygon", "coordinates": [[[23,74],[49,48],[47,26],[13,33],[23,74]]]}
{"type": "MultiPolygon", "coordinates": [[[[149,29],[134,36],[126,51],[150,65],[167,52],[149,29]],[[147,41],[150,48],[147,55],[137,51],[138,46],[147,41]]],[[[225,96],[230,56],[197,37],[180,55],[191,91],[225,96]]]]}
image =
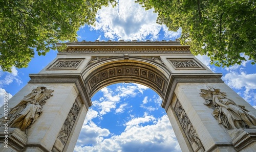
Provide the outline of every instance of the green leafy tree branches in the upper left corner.
{"type": "Polygon", "coordinates": [[[0,65],[27,67],[34,57],[75,41],[79,27],[93,24],[101,6],[115,0],[0,0],[0,65]]]}

